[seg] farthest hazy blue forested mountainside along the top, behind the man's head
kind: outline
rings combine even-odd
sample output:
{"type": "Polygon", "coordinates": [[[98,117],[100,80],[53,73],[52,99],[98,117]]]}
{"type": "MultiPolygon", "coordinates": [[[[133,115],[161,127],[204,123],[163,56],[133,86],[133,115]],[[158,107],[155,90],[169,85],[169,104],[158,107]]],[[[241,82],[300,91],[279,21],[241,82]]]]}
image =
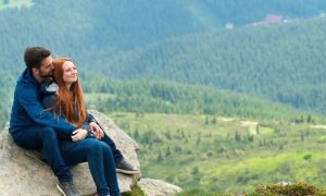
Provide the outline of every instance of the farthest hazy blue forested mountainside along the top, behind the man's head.
{"type": "Polygon", "coordinates": [[[314,0],[2,0],[0,63],[17,64],[28,45],[42,45],[90,63],[117,51],[186,34],[242,26],[268,13],[284,19],[317,16],[326,2],[314,0]],[[14,56],[15,54],[15,56],[14,56]]]}

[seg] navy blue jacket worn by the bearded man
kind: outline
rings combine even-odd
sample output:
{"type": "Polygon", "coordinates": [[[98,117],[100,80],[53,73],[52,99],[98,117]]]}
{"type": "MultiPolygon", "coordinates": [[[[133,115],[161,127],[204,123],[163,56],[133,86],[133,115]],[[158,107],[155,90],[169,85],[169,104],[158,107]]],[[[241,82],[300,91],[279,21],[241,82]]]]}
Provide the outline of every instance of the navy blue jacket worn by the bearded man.
{"type": "Polygon", "coordinates": [[[54,117],[41,106],[39,83],[26,69],[18,77],[14,91],[9,132],[24,132],[25,127],[45,125],[72,134],[77,127],[63,118],[54,117]]]}

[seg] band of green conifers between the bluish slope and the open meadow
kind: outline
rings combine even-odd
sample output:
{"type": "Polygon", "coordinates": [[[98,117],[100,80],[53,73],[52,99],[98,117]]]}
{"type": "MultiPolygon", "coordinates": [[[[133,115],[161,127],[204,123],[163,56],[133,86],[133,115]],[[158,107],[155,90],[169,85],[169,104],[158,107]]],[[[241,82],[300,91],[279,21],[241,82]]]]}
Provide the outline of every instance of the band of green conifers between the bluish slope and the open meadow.
{"type": "Polygon", "coordinates": [[[303,117],[315,122],[322,119],[243,94],[164,81],[89,79],[83,83],[83,87],[89,108],[102,112],[135,112],[136,118],[141,118],[143,112],[214,114],[203,121],[205,124],[216,123],[216,115],[296,123],[305,123],[296,121],[303,117]]]}

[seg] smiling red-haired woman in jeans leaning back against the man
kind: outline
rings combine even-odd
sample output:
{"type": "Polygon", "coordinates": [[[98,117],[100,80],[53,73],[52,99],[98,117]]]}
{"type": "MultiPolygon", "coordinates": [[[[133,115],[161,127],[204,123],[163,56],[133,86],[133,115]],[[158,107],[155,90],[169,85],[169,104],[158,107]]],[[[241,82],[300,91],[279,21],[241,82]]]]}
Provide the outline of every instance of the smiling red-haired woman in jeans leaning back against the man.
{"type": "MultiPolygon", "coordinates": [[[[96,123],[96,120],[87,114],[76,66],[67,58],[53,60],[53,81],[46,81],[41,85],[43,107],[64,117],[76,127],[84,128],[75,131],[72,136],[62,135],[58,132],[65,162],[70,166],[76,166],[88,161],[98,194],[120,195],[115,173],[115,156],[112,152],[117,149],[96,123]],[[113,150],[112,145],[114,146],[113,150]]],[[[120,151],[118,154],[122,157],[120,151]]]]}

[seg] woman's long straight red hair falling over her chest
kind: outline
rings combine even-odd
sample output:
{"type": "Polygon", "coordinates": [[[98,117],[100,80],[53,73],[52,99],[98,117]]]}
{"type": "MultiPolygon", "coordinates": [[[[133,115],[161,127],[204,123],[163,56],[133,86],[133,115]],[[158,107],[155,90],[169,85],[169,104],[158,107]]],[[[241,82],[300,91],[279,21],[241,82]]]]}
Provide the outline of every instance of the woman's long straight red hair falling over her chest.
{"type": "Polygon", "coordinates": [[[73,83],[71,89],[66,88],[63,82],[63,63],[71,61],[68,58],[58,58],[53,60],[53,79],[59,85],[57,91],[57,103],[59,115],[63,115],[70,123],[80,127],[86,121],[87,111],[83,97],[83,89],[79,82],[73,83]]]}

